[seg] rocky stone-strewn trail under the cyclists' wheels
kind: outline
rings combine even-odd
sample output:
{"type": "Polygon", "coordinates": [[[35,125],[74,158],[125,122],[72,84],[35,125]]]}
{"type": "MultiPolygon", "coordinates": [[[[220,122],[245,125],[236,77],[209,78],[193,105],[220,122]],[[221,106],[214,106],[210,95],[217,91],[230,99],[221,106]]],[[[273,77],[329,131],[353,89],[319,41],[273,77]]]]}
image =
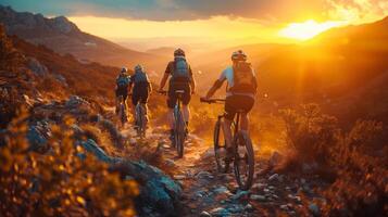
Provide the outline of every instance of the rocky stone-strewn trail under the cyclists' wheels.
{"type": "MultiPolygon", "coordinates": [[[[318,179],[290,177],[265,171],[268,164],[276,164],[278,153],[271,159],[255,156],[255,178],[249,191],[238,189],[233,171],[216,170],[211,141],[190,135],[185,143],[183,158],[177,157],[163,129],[150,129],[145,141],[162,154],[166,169],[183,188],[178,216],[320,216],[313,199],[313,189],[322,186],[318,179]]],[[[135,136],[130,128],[124,135],[135,136]]],[[[309,169],[309,168],[305,168],[309,169]]]]}

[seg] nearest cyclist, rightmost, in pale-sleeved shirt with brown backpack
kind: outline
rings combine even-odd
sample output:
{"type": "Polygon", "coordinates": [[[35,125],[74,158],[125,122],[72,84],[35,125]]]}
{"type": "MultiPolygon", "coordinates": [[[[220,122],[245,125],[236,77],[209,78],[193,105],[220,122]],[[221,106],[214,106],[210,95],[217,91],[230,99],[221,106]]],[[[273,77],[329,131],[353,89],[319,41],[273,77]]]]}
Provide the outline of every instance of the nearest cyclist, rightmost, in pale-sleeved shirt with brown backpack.
{"type": "Polygon", "coordinates": [[[215,91],[220,89],[223,82],[227,81],[225,118],[223,122],[223,131],[225,136],[227,156],[233,154],[231,150],[231,130],[230,126],[237,111],[243,111],[241,114],[241,130],[248,131],[248,113],[254,104],[258,82],[252,65],[247,62],[247,55],[241,50],[231,54],[233,65],[226,67],[213,87],[208,91],[205,100],[210,100],[215,91]]]}

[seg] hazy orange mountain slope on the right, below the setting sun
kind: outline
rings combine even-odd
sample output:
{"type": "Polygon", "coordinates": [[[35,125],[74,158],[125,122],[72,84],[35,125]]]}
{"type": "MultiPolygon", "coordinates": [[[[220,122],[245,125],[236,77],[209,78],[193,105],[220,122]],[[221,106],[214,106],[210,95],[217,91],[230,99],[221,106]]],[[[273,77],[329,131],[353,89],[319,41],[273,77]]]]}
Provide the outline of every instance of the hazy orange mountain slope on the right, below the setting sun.
{"type": "Polygon", "coordinates": [[[261,91],[285,105],[318,102],[351,120],[388,122],[386,56],[388,17],[330,29],[275,51],[264,62],[258,60],[261,91]]]}

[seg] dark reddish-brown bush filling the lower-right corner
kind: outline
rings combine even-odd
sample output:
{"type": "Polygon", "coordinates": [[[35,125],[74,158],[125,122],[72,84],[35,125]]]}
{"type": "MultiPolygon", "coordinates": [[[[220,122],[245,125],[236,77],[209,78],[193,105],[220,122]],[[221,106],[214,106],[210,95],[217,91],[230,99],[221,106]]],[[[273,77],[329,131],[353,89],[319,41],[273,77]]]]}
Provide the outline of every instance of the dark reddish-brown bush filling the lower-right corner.
{"type": "Polygon", "coordinates": [[[383,216],[388,212],[388,153],[376,145],[381,132],[381,123],[358,120],[349,133],[339,138],[330,158],[337,179],[324,192],[327,216],[383,216]],[[375,152],[383,154],[374,156],[375,152]]]}

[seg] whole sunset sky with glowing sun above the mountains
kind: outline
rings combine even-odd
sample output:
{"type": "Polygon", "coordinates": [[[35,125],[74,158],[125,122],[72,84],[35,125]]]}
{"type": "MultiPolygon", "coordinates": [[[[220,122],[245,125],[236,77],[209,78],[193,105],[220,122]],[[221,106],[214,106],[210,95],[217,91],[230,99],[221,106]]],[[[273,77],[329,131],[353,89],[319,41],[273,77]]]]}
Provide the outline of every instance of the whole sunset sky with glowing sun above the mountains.
{"type": "Polygon", "coordinates": [[[0,0],[0,4],[46,16],[65,15],[84,31],[126,42],[155,38],[179,43],[287,42],[388,15],[387,0],[0,0]]]}

